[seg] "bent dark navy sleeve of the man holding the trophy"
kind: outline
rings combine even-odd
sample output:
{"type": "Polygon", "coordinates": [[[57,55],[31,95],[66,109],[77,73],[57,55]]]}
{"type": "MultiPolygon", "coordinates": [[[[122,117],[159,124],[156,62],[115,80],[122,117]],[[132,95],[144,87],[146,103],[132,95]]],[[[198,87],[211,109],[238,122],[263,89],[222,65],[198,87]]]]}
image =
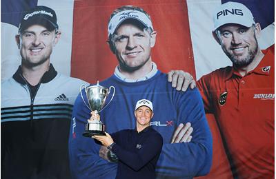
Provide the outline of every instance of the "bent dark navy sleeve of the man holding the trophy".
{"type": "Polygon", "coordinates": [[[153,157],[159,155],[163,145],[163,139],[159,134],[152,134],[147,138],[141,149],[137,151],[128,151],[118,144],[113,145],[114,152],[121,162],[124,162],[128,167],[138,171],[144,167],[153,157]]]}

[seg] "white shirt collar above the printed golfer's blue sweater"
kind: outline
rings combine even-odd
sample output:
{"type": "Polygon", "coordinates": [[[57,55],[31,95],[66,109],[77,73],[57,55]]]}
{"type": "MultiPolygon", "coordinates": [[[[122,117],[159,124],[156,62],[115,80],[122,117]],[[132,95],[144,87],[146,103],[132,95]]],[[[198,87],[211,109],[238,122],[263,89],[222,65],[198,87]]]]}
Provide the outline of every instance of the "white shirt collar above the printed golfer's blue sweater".
{"type": "Polygon", "coordinates": [[[119,65],[117,65],[117,67],[115,67],[115,76],[117,76],[117,78],[121,79],[121,81],[125,81],[125,82],[128,82],[128,83],[135,83],[135,82],[138,82],[138,81],[146,81],[148,80],[149,78],[152,78],[153,76],[155,76],[155,74],[157,73],[157,65],[152,62],[152,70],[146,74],[146,76],[143,76],[139,79],[128,79],[126,78],[126,76],[124,76],[124,74],[121,74],[120,70],[119,70],[119,65]]]}

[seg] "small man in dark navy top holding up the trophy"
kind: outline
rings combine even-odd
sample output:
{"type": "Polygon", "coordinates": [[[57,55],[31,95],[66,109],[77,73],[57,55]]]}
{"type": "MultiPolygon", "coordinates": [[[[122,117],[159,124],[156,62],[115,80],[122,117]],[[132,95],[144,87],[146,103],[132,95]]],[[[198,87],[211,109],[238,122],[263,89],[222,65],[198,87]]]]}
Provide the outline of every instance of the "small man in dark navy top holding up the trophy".
{"type": "MultiPolygon", "coordinates": [[[[92,113],[97,120],[99,114],[92,113]]],[[[150,127],[153,116],[152,102],[137,101],[135,107],[135,129],[124,129],[106,136],[93,136],[108,147],[118,158],[116,178],[155,178],[155,167],[161,153],[162,136],[150,127]]]]}

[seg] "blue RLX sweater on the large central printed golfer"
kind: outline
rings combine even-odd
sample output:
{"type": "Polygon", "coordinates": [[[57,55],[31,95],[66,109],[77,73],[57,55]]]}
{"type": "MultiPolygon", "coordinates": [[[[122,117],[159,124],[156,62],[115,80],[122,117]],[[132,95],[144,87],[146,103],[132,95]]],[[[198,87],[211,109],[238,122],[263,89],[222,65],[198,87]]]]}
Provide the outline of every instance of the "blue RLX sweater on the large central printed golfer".
{"type": "MultiPolygon", "coordinates": [[[[160,71],[147,81],[136,83],[126,83],[113,75],[100,85],[104,87],[113,85],[116,89],[110,105],[100,114],[108,133],[135,128],[136,102],[141,98],[152,101],[155,115],[151,120],[151,126],[164,140],[157,162],[157,178],[161,176],[193,178],[204,176],[210,171],[212,137],[198,89],[177,92],[168,82],[167,75],[160,71]],[[176,127],[180,123],[187,122],[190,122],[194,129],[192,141],[171,144],[176,127]]],[[[83,96],[86,98],[85,92],[83,96]]],[[[107,101],[110,100],[110,96],[107,101]]],[[[72,113],[69,138],[72,176],[74,178],[115,178],[117,164],[103,160],[99,156],[100,145],[92,138],[82,136],[88,118],[90,118],[90,109],[86,107],[79,95],[72,113]]]]}

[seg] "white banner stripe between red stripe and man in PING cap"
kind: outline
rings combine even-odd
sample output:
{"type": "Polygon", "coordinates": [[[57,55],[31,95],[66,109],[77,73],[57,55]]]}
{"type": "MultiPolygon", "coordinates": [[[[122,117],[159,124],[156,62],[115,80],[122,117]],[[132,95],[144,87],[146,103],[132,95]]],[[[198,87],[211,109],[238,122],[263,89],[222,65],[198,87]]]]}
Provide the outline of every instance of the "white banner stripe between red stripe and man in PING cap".
{"type": "Polygon", "coordinates": [[[219,0],[187,0],[197,79],[220,67],[232,65],[212,35],[213,13],[219,5],[219,0]]]}

